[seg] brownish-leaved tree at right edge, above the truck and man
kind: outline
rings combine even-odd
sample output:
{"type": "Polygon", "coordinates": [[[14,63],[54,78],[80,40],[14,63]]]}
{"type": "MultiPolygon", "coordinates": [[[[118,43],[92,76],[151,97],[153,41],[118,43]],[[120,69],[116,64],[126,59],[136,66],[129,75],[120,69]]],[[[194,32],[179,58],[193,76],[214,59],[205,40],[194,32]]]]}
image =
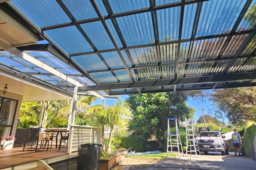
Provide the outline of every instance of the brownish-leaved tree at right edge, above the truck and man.
{"type": "Polygon", "coordinates": [[[256,87],[215,90],[210,99],[233,124],[256,120],[256,87]]]}

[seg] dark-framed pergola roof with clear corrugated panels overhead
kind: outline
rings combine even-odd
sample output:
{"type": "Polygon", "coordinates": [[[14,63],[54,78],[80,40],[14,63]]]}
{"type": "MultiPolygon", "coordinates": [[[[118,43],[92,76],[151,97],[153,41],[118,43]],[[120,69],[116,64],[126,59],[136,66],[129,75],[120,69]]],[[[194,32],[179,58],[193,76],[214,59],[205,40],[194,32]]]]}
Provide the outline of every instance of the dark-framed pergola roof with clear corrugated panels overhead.
{"type": "Polygon", "coordinates": [[[0,65],[69,94],[75,87],[75,94],[108,96],[254,86],[255,6],[256,0],[12,0],[1,9],[47,43],[1,41],[0,65]]]}

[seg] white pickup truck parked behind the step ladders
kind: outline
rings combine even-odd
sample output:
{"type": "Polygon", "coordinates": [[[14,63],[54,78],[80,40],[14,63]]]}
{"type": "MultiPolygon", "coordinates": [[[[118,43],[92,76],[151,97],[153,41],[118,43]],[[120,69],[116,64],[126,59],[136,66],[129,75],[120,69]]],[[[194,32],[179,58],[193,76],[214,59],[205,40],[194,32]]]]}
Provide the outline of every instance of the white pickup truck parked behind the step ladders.
{"type": "Polygon", "coordinates": [[[208,154],[211,152],[221,152],[222,156],[228,155],[225,136],[218,131],[201,131],[196,138],[200,151],[208,154]]]}

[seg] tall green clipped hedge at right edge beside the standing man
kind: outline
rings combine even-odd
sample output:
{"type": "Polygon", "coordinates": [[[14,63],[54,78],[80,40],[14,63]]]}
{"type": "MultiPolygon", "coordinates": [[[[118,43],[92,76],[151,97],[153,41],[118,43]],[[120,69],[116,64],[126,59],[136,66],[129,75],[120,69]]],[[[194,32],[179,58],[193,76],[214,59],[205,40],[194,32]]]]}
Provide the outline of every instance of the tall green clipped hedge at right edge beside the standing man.
{"type": "MultiPolygon", "coordinates": [[[[245,156],[252,157],[253,140],[256,133],[256,125],[251,125],[245,130],[242,141],[242,153],[245,156]]],[[[255,159],[255,158],[254,158],[255,159]]]]}

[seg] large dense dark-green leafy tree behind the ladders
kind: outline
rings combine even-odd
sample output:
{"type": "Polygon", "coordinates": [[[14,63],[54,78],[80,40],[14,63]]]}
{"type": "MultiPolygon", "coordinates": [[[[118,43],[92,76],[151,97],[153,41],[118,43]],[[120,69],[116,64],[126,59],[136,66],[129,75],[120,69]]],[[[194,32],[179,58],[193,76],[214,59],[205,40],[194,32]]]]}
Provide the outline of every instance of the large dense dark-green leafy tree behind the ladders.
{"type": "Polygon", "coordinates": [[[186,105],[186,100],[186,93],[183,92],[129,95],[126,101],[135,116],[129,130],[144,140],[154,135],[159,144],[165,144],[167,119],[177,117],[179,123],[195,113],[194,108],[186,105]]]}

